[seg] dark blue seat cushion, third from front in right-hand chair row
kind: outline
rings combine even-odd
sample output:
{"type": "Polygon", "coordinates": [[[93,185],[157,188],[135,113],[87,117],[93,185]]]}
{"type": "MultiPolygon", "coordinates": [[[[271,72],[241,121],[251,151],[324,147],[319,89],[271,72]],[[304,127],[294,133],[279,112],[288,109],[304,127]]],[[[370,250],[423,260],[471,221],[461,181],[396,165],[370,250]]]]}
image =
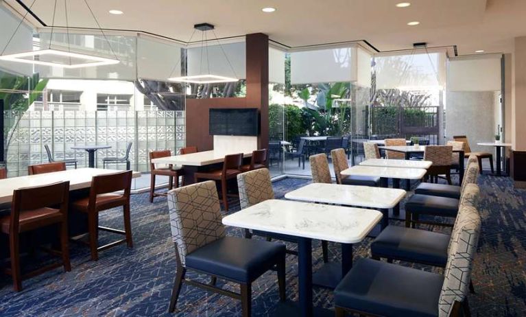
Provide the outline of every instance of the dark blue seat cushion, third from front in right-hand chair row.
{"type": "Polygon", "coordinates": [[[456,217],[459,200],[416,193],[405,202],[405,211],[421,215],[441,215],[456,217]]]}

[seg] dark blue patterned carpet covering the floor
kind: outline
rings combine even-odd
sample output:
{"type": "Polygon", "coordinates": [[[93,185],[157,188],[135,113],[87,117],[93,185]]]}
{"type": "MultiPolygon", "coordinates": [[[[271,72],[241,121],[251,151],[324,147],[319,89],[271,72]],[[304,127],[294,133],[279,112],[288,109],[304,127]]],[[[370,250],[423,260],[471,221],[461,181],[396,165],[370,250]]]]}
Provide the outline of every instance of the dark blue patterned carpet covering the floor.
{"type": "MultiPolygon", "coordinates": [[[[283,198],[287,191],[308,182],[285,178],[274,183],[274,190],[277,198],[283,198]]],[[[472,314],[526,316],[526,191],[514,189],[509,178],[481,176],[479,185],[483,231],[473,274],[477,293],[469,296],[472,314]]],[[[232,211],[237,209],[239,205],[235,204],[232,211]]],[[[122,226],[121,213],[105,213],[100,223],[122,226]]],[[[13,292],[10,278],[3,277],[0,316],[174,316],[167,314],[176,261],[165,198],[156,198],[150,204],[147,194],[133,196],[132,228],[134,249],[117,246],[93,262],[87,247],[71,244],[72,272],[57,269],[26,280],[23,292],[13,292]]],[[[228,228],[228,235],[241,236],[241,229],[228,228]]],[[[102,242],[114,238],[101,233],[102,242]]],[[[355,246],[355,258],[369,256],[370,242],[366,239],[355,246]]],[[[333,259],[339,258],[338,249],[330,244],[333,259]]],[[[321,248],[315,244],[313,270],[321,264],[321,248]]],[[[203,278],[197,274],[189,277],[203,278]]],[[[291,300],[297,299],[297,283],[296,257],[288,255],[287,296],[291,300]]],[[[235,285],[224,287],[238,291],[235,285]]],[[[263,275],[252,291],[253,315],[272,316],[278,302],[276,274],[263,275]]],[[[330,291],[315,289],[314,296],[315,305],[333,306],[330,291]]],[[[178,309],[177,316],[239,316],[241,305],[232,298],[183,286],[178,309]]]]}

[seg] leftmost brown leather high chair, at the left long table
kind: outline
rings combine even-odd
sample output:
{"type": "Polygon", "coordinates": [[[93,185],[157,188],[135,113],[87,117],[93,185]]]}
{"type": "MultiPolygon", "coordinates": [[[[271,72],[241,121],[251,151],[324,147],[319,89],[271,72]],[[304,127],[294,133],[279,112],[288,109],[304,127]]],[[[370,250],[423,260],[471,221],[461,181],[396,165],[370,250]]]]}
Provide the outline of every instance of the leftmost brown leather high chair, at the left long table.
{"type": "Polygon", "coordinates": [[[54,183],[39,187],[26,187],[13,191],[12,208],[9,215],[0,218],[2,233],[9,235],[11,268],[6,273],[12,275],[16,292],[22,290],[22,279],[64,266],[66,272],[71,271],[68,249],[68,198],[69,182],[54,183]],[[19,236],[37,228],[59,224],[61,250],[53,251],[59,254],[62,261],[51,263],[43,268],[21,274],[19,255],[19,236]]]}

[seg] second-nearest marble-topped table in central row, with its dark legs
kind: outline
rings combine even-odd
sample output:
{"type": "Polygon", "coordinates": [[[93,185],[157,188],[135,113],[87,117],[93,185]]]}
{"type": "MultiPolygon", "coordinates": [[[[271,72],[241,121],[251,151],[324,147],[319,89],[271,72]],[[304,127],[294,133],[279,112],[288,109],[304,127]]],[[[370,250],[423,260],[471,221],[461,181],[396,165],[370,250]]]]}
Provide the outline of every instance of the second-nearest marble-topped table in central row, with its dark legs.
{"type": "MultiPolygon", "coordinates": [[[[340,204],[352,207],[379,209],[382,216],[381,230],[389,224],[389,209],[397,207],[405,197],[403,189],[311,183],[285,194],[285,198],[304,202],[340,204]]],[[[335,288],[342,280],[342,264],[329,262],[313,275],[313,284],[335,288]]]]}

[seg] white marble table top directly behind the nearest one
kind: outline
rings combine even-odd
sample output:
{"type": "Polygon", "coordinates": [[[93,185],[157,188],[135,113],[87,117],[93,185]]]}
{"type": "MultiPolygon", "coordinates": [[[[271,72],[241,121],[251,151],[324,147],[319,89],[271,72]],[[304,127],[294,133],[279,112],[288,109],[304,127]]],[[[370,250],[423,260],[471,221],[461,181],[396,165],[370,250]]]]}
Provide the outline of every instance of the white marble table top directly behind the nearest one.
{"type": "Polygon", "coordinates": [[[381,209],[395,207],[404,196],[403,189],[325,183],[311,183],[285,193],[291,200],[381,209]]]}

